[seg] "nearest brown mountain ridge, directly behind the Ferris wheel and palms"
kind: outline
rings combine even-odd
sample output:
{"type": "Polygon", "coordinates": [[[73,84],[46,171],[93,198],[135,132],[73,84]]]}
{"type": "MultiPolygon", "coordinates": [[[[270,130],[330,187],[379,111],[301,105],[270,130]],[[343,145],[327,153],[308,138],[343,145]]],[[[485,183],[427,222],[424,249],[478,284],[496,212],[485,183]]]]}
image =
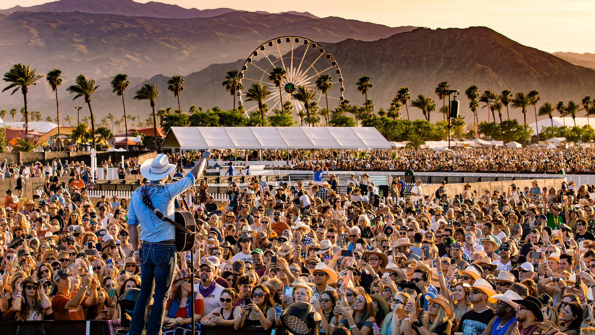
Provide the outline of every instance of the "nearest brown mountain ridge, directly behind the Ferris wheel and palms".
{"type": "MultiPolygon", "coordinates": [[[[346,39],[325,44],[324,48],[336,58],[345,80],[345,97],[352,104],[361,106],[364,103],[364,96],[356,91],[355,83],[358,78],[371,77],[374,87],[369,89],[368,98],[374,100],[376,111],[380,107],[389,107],[401,86],[411,89],[412,99],[417,98],[418,94],[424,94],[436,100],[437,106],[441,107],[434,89],[442,80],[449,82],[451,89],[461,91],[458,96],[458,100],[462,101],[461,113],[469,123],[472,114],[467,108],[468,100],[464,92],[470,85],[477,85],[480,93],[485,89],[497,93],[510,89],[513,94],[537,89],[541,93],[537,107],[546,101],[555,104],[558,101],[574,100],[579,103],[585,95],[594,95],[592,90],[595,87],[595,70],[576,66],[547,52],[518,44],[486,27],[437,30],[418,28],[378,41],[346,39]]],[[[312,60],[306,57],[306,61],[312,60]]],[[[211,64],[199,72],[187,75],[186,88],[180,94],[182,109],[186,111],[192,104],[205,108],[231,108],[233,100],[221,82],[227,71],[241,69],[243,63],[244,60],[240,59],[231,63],[211,64]]],[[[156,108],[171,106],[176,109],[177,100],[167,91],[167,80],[165,75],[156,75],[145,82],[155,83],[161,89],[156,108]]],[[[102,83],[102,87],[93,95],[96,106],[94,110],[100,118],[109,112],[121,114],[121,100],[111,92],[107,81],[106,79],[105,86],[102,83]]],[[[138,80],[135,82],[138,83],[138,80]]],[[[124,95],[127,112],[131,115],[146,115],[150,111],[146,101],[132,100],[140,84],[131,84],[124,95]]],[[[245,85],[248,86],[249,83],[245,85]]],[[[270,84],[269,88],[274,89],[274,85],[270,84]]],[[[34,89],[30,90],[30,97],[34,89]]],[[[60,95],[62,113],[70,113],[75,106],[83,106],[83,101],[73,103],[70,96],[65,96],[65,93],[60,95]]],[[[320,101],[320,104],[323,102],[320,101]]],[[[54,101],[42,99],[32,100],[30,106],[35,110],[47,111],[55,108],[54,101]]],[[[252,106],[253,103],[246,103],[246,107],[252,106]]],[[[0,107],[8,106],[3,104],[0,107]]],[[[330,107],[334,108],[336,104],[331,104],[330,107]]],[[[487,113],[487,108],[483,108],[482,104],[479,109],[480,120],[486,120],[487,113]]],[[[506,108],[502,113],[503,118],[506,118],[506,108]]],[[[509,113],[511,117],[522,120],[520,110],[510,107],[509,113]]],[[[406,117],[405,108],[402,114],[406,117]]],[[[411,119],[422,117],[421,111],[413,107],[409,107],[409,114],[411,119]]],[[[533,122],[533,107],[528,108],[527,114],[527,121],[533,122]]],[[[431,120],[438,119],[442,119],[442,116],[433,113],[431,120]]]]}

